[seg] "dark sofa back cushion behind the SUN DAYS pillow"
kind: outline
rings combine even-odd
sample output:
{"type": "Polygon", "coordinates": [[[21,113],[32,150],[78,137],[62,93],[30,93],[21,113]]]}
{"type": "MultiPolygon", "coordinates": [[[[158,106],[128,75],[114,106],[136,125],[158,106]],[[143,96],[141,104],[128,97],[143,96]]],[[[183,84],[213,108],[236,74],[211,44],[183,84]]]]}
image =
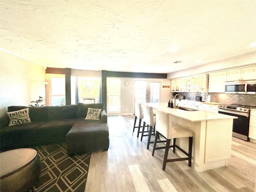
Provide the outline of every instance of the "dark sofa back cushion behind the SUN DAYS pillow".
{"type": "Polygon", "coordinates": [[[43,122],[48,120],[48,106],[27,107],[27,106],[9,106],[8,112],[29,108],[31,122],[43,122]]]}

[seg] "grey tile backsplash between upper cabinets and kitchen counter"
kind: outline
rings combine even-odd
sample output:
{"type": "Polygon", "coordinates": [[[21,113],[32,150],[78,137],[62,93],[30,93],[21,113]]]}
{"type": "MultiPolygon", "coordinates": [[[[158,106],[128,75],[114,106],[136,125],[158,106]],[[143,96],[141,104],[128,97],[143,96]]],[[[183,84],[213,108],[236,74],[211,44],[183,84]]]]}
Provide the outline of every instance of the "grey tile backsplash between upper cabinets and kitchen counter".
{"type": "Polygon", "coordinates": [[[205,93],[205,92],[178,92],[185,99],[196,100],[196,96],[202,96],[206,101],[207,95],[211,96],[210,102],[238,104],[256,107],[256,94],[227,94],[227,93],[205,93]]]}

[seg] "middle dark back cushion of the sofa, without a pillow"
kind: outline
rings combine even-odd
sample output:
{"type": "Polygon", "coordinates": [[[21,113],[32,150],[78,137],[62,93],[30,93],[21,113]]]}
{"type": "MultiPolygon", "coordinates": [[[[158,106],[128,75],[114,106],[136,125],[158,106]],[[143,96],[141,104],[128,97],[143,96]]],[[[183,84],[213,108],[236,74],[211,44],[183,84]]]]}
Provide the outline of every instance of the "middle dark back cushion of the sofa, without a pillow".
{"type": "Polygon", "coordinates": [[[48,120],[76,118],[77,105],[51,106],[48,108],[48,120]]]}

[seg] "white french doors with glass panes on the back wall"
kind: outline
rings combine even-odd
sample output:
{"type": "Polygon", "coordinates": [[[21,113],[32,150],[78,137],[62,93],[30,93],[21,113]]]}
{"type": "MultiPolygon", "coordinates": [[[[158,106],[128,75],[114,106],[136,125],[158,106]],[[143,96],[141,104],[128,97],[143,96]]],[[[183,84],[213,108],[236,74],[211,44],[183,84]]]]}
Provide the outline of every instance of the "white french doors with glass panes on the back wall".
{"type": "Polygon", "coordinates": [[[161,102],[161,80],[134,80],[134,102],[161,102]]]}

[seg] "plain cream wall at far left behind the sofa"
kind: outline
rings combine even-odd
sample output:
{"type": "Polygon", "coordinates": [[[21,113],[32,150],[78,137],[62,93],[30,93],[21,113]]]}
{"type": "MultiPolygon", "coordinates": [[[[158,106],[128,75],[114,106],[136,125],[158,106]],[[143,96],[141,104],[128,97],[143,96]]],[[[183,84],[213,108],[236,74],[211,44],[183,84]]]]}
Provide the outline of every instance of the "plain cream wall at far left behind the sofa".
{"type": "Polygon", "coordinates": [[[45,98],[45,68],[0,51],[0,117],[11,105],[28,106],[45,98]]]}

